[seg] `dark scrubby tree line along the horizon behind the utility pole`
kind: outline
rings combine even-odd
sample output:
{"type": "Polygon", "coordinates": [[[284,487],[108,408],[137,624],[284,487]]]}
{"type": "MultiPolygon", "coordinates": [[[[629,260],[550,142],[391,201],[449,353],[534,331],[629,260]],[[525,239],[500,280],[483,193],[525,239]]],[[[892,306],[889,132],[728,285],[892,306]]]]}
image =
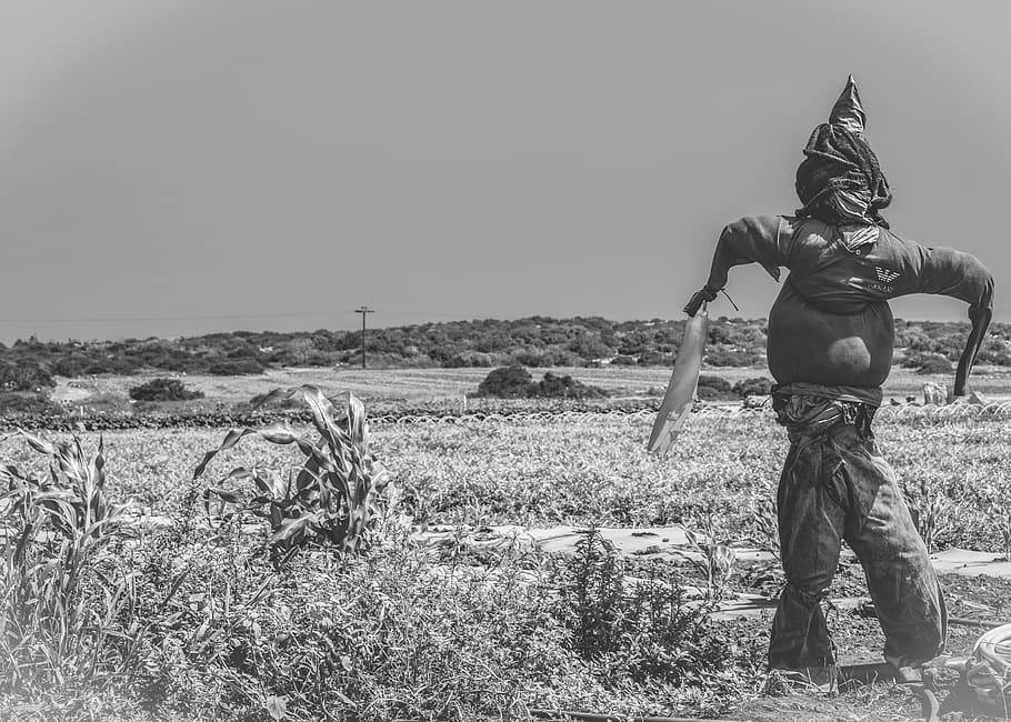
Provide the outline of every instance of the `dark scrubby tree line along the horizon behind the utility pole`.
{"type": "MultiPolygon", "coordinates": [[[[367,332],[372,368],[670,365],[683,321],[609,321],[602,318],[473,320],[422,323],[367,332]]],[[[763,319],[721,317],[711,321],[707,363],[762,367],[763,319]]],[[[968,323],[895,321],[897,362],[909,367],[955,360],[968,323]]],[[[19,340],[0,344],[0,391],[41,391],[54,377],[134,374],[238,375],[270,368],[358,365],[362,332],[234,331],[177,339],[117,341],[19,340]]],[[[1011,324],[995,323],[979,362],[1011,365],[1011,324]]]]}

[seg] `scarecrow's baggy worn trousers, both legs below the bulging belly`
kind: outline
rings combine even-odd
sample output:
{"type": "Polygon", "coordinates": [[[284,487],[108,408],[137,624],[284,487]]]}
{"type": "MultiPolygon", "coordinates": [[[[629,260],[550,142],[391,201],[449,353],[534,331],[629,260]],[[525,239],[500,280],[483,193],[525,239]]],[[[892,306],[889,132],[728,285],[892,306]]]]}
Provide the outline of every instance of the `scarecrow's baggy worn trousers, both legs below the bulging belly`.
{"type": "Polygon", "coordinates": [[[927,546],[894,471],[874,443],[869,418],[864,424],[850,421],[839,419],[811,435],[791,429],[777,497],[787,585],[772,622],[772,669],[834,664],[820,602],[842,540],[867,575],[884,631],[885,660],[897,668],[917,666],[944,646],[948,615],[927,546]]]}

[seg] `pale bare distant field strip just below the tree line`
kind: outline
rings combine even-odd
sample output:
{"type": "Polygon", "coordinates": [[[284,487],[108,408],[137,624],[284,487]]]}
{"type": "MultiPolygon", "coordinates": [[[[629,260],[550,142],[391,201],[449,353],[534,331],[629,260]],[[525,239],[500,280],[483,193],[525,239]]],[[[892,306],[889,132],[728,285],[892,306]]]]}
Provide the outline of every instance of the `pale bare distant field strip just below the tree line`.
{"type": "MultiPolygon", "coordinates": [[[[583,383],[600,387],[614,398],[659,399],[670,380],[670,369],[638,367],[552,368],[530,369],[534,379],[547,371],[572,375],[583,383]]],[[[311,383],[327,392],[351,391],[366,401],[402,401],[424,403],[453,401],[464,394],[477,393],[478,385],[489,369],[352,369],[306,368],[268,371],[250,377],[183,377],[188,387],[202,391],[203,404],[233,404],[278,387],[311,383]]],[[[705,369],[703,373],[719,375],[731,383],[754,377],[769,377],[764,368],[705,369]]],[[[128,404],[131,387],[147,378],[166,375],[152,373],[136,377],[93,377],[58,379],[53,398],[74,405],[116,407],[128,404]]],[[[928,381],[951,385],[953,375],[920,375],[908,369],[895,368],[884,387],[885,399],[903,401],[907,397],[922,400],[923,384],[928,381]]],[[[973,374],[972,388],[987,398],[1011,398],[1011,369],[981,367],[973,374]]]]}

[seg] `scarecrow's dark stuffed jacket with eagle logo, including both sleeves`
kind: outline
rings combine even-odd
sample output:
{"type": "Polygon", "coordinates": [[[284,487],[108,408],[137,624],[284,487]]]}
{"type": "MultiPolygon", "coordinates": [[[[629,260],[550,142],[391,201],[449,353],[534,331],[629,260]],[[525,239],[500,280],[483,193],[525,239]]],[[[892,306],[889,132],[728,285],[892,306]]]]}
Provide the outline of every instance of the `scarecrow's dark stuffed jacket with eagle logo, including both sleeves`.
{"type": "Polygon", "coordinates": [[[777,280],[781,267],[789,269],[769,313],[773,378],[780,385],[817,384],[834,398],[874,404],[892,363],[889,299],[933,293],[965,301],[972,331],[954,388],[963,394],[992,314],[990,271],[969,253],[927,248],[884,228],[870,227],[863,233],[870,242],[855,245],[860,228],[811,218],[742,218],[723,229],[707,285],[723,288],[730,268],[743,263],[759,263],[777,280]]]}

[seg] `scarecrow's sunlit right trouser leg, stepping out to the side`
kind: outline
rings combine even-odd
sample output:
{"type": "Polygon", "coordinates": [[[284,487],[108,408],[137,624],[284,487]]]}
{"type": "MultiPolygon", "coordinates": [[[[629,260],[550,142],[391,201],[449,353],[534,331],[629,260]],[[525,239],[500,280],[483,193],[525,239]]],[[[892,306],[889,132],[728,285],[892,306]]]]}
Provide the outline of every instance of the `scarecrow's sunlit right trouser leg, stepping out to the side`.
{"type": "Polygon", "coordinates": [[[874,441],[854,431],[837,439],[851,497],[845,540],[867,574],[884,656],[895,666],[915,666],[944,648],[948,614],[940,583],[895,473],[874,441]]]}

